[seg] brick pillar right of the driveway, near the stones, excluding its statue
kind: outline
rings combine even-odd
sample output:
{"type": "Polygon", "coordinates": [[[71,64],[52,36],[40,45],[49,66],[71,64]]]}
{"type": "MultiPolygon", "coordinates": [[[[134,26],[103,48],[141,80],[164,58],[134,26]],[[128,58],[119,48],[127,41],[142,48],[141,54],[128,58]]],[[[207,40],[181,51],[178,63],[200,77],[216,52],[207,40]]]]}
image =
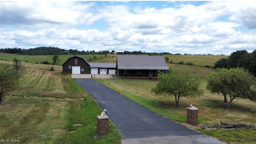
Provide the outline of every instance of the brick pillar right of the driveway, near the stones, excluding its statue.
{"type": "Polygon", "coordinates": [[[187,124],[197,126],[198,108],[187,108],[187,124]]]}

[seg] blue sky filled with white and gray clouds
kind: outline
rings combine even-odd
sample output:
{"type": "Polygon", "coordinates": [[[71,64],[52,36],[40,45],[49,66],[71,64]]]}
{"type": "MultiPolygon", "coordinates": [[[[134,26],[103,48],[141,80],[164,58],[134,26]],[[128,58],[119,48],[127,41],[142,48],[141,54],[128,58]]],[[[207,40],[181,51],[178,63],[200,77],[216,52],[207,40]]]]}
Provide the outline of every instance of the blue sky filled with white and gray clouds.
{"type": "Polygon", "coordinates": [[[0,48],[225,54],[256,49],[256,1],[0,1],[0,48]]]}

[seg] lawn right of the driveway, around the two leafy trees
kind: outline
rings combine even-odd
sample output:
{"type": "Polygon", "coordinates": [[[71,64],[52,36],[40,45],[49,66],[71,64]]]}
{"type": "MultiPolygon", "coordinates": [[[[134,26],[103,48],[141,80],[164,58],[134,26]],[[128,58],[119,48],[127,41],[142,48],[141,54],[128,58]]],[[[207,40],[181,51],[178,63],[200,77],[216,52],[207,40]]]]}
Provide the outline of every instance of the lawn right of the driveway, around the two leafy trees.
{"type": "MultiPolygon", "coordinates": [[[[199,67],[200,68],[200,67],[199,67]]],[[[174,97],[165,98],[156,96],[150,92],[157,80],[129,80],[129,79],[96,79],[98,82],[120,92],[124,96],[142,104],[146,108],[170,118],[176,122],[188,126],[186,123],[186,108],[193,104],[199,108],[198,126],[192,127],[201,131],[203,134],[215,137],[229,144],[256,143],[256,139],[251,135],[256,134],[256,129],[251,130],[202,130],[200,124],[205,122],[246,122],[256,124],[256,103],[249,100],[235,100],[231,104],[231,109],[226,110],[224,97],[212,94],[205,90],[206,79],[202,78],[204,95],[200,98],[180,98],[179,107],[175,105],[174,97]],[[248,133],[250,133],[248,135],[248,133]],[[238,138],[241,138],[239,140],[238,138]]]]}

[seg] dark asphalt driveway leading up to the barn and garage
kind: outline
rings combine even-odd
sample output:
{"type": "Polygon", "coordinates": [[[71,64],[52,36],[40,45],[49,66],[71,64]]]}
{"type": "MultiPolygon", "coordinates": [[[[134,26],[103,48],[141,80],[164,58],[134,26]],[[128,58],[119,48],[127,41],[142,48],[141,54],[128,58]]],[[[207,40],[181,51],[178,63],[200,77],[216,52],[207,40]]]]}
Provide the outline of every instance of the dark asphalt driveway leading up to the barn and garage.
{"type": "Polygon", "coordinates": [[[134,143],[137,143],[142,138],[166,138],[168,140],[168,138],[177,139],[178,137],[188,138],[191,136],[200,138],[204,136],[200,132],[148,110],[93,79],[74,78],[74,80],[94,98],[100,108],[105,108],[108,111],[110,120],[124,136],[123,143],[126,139],[134,140],[134,143]]]}

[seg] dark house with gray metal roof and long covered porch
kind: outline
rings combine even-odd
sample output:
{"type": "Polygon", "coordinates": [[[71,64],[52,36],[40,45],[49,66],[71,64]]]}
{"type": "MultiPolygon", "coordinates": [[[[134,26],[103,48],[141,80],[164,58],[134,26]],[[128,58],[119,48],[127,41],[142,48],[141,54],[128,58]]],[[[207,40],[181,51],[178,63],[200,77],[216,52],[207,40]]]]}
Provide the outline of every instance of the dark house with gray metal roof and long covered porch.
{"type": "Polygon", "coordinates": [[[158,70],[170,70],[164,56],[118,55],[117,75],[120,77],[156,77],[158,70]]]}

